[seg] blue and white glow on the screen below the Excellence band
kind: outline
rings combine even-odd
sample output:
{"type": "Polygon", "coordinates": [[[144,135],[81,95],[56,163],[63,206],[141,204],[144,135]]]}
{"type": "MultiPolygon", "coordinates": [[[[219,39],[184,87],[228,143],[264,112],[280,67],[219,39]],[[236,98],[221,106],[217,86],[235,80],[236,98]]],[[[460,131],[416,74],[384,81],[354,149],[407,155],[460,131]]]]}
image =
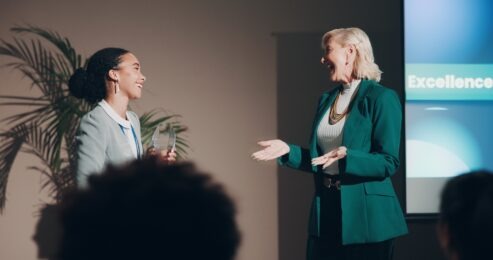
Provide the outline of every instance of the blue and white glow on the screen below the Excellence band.
{"type": "MultiPolygon", "coordinates": [[[[487,158],[491,147],[483,146],[493,143],[493,136],[484,131],[493,128],[487,115],[471,116],[477,107],[456,102],[440,102],[441,107],[427,103],[413,102],[407,108],[408,121],[413,122],[406,131],[412,177],[451,177],[485,166],[493,168],[487,158]]],[[[480,109],[493,109],[492,102],[481,103],[480,109]]]]}

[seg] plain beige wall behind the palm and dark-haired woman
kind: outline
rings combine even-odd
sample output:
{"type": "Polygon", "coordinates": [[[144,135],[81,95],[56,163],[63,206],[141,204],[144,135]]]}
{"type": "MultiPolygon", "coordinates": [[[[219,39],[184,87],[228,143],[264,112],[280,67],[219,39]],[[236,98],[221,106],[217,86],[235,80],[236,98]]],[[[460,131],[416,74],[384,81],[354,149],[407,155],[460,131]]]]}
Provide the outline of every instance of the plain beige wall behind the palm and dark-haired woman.
{"type": "MultiPolygon", "coordinates": [[[[0,0],[0,39],[16,24],[50,28],[84,55],[102,47],[134,52],[147,76],[138,113],[162,107],[190,127],[190,158],[234,197],[243,241],[237,259],[278,258],[276,166],[249,155],[276,134],[274,31],[304,30],[303,1],[0,0]],[[287,3],[285,3],[287,2],[287,3]]],[[[0,58],[4,63],[5,58],[0,58]]],[[[29,95],[27,81],[0,69],[1,95],[29,95]]],[[[35,94],[33,92],[33,94],[35,94]]],[[[14,111],[1,108],[1,116],[14,111]]],[[[5,125],[0,125],[5,129],[5,125]]],[[[37,210],[50,201],[21,155],[0,216],[0,259],[36,259],[37,210]]]]}

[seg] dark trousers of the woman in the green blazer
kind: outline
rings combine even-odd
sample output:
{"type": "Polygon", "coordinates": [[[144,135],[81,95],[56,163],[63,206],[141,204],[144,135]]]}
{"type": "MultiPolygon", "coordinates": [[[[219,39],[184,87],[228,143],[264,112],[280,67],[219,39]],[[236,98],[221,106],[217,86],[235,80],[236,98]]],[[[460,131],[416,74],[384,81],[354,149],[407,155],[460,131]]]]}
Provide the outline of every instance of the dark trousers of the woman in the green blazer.
{"type": "Polygon", "coordinates": [[[308,260],[392,260],[394,243],[342,245],[341,192],[324,188],[320,207],[320,237],[308,238],[308,260]]]}

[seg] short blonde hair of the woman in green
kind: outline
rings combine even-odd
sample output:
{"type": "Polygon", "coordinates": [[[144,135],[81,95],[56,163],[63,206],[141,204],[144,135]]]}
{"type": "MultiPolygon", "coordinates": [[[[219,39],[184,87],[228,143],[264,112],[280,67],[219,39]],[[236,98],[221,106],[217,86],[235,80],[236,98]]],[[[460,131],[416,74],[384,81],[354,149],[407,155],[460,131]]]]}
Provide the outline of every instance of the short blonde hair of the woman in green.
{"type": "Polygon", "coordinates": [[[354,60],[353,76],[357,79],[380,81],[382,71],[375,63],[370,39],[366,33],[356,27],[340,28],[328,31],[322,37],[322,49],[332,39],[342,46],[354,45],[356,59],[354,60]]]}

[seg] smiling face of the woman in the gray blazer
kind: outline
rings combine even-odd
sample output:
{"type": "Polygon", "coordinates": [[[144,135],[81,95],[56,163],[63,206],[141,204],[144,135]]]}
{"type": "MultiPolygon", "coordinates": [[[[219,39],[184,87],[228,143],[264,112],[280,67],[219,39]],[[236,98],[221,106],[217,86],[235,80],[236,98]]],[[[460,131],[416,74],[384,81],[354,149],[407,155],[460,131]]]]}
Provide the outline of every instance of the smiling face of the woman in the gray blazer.
{"type": "Polygon", "coordinates": [[[132,53],[120,57],[120,64],[115,69],[115,77],[120,87],[121,95],[128,99],[138,99],[142,95],[142,87],[146,77],[142,74],[140,62],[132,53]]]}

